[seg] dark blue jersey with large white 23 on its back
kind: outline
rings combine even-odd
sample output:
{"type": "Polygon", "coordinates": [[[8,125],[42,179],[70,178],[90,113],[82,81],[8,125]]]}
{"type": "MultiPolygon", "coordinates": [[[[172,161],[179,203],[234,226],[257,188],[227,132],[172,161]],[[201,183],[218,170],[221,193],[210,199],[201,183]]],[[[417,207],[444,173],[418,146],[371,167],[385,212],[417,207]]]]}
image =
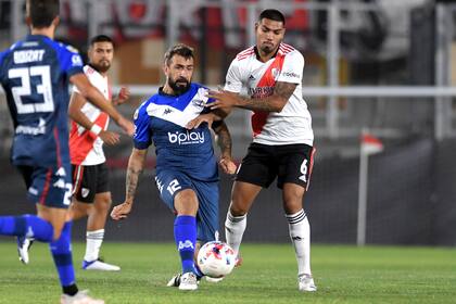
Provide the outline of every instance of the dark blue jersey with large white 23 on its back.
{"type": "Polygon", "coordinates": [[[75,49],[29,35],[0,53],[0,83],[14,123],[14,165],[69,164],[69,77],[84,73],[75,49]]]}

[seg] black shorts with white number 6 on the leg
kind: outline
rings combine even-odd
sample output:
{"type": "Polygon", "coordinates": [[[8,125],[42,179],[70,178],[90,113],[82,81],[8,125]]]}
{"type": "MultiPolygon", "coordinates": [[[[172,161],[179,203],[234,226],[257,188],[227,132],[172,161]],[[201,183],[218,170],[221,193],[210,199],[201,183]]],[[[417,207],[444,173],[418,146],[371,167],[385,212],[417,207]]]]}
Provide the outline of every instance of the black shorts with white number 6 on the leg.
{"type": "Polygon", "coordinates": [[[291,182],[308,188],[314,165],[315,148],[304,144],[267,145],[253,142],[239,166],[236,180],[268,188],[291,182]]]}

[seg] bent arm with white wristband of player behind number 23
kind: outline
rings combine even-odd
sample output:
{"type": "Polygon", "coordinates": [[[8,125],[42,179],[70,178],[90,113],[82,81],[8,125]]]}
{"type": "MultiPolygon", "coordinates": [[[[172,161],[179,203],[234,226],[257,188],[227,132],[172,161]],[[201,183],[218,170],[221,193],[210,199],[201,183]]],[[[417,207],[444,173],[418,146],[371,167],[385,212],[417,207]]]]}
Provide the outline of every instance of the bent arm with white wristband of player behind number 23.
{"type": "Polygon", "coordinates": [[[119,140],[118,134],[103,130],[101,126],[90,122],[87,115],[81,111],[84,104],[86,104],[86,99],[79,93],[73,92],[68,106],[69,118],[90,131],[93,138],[100,137],[107,144],[116,144],[119,140]]]}

